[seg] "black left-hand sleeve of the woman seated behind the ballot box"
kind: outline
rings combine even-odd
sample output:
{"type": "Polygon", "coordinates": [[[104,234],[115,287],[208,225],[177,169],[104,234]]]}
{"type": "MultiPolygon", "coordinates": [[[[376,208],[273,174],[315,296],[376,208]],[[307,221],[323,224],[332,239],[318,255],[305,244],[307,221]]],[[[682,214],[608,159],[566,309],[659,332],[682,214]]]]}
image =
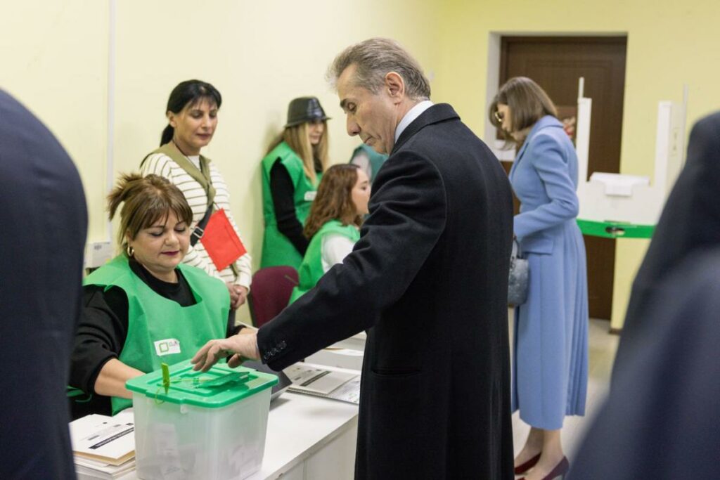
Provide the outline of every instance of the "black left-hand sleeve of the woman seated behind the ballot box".
{"type": "Polygon", "coordinates": [[[102,366],[120,356],[127,338],[127,295],[117,287],[83,289],[83,308],[71,355],[70,386],[88,394],[95,392],[95,380],[102,366]]]}

